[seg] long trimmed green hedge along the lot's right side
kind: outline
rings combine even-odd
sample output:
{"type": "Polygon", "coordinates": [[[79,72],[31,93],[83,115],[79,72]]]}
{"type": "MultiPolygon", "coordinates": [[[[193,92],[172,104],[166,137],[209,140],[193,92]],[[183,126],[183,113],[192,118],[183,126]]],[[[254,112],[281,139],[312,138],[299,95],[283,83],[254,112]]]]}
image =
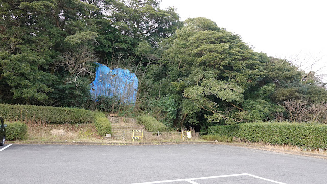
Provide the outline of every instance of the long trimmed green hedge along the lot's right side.
{"type": "Polygon", "coordinates": [[[209,135],[238,137],[250,142],[296,145],[311,149],[327,148],[327,125],[295,123],[241,123],[212,126],[209,135]]]}

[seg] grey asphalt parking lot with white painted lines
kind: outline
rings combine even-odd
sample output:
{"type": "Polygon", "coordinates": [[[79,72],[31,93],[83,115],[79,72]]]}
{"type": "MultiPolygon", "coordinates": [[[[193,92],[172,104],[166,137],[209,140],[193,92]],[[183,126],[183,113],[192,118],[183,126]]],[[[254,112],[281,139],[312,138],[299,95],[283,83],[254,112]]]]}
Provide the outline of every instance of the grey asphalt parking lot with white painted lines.
{"type": "Polygon", "coordinates": [[[13,144],[0,151],[0,158],[1,183],[244,184],[327,180],[324,159],[216,144],[13,144]]]}

